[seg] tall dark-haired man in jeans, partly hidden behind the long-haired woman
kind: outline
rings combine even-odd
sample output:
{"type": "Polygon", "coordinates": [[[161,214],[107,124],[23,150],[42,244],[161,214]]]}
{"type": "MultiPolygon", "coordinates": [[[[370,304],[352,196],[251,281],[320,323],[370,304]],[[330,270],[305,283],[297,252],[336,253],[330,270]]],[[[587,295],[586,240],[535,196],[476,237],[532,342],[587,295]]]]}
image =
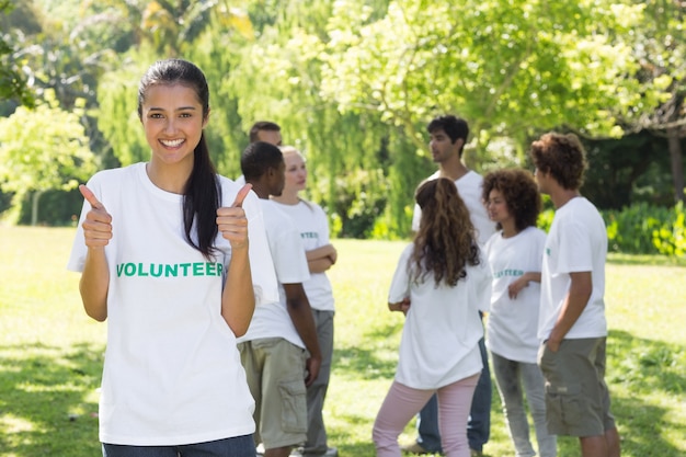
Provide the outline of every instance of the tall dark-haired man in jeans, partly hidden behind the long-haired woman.
{"type": "MultiPolygon", "coordinates": [[[[495,232],[495,224],[489,219],[481,201],[483,178],[473,170],[469,170],[462,161],[469,126],[465,119],[454,115],[445,115],[435,117],[426,129],[431,137],[428,147],[434,162],[438,163],[438,171],[428,176],[427,180],[449,178],[455,181],[457,192],[469,209],[469,217],[477,231],[479,244],[483,247],[491,235],[495,232]]],[[[421,217],[422,212],[415,205],[412,217],[412,229],[415,231],[419,229],[421,217]]],[[[483,339],[479,342],[479,349],[483,370],[475,391],[469,423],[467,424],[467,437],[472,456],[482,455],[483,445],[489,441],[491,431],[491,373],[483,339]]],[[[438,408],[434,396],[420,412],[416,443],[403,446],[403,450],[414,454],[442,452],[437,415],[438,408]]]]}

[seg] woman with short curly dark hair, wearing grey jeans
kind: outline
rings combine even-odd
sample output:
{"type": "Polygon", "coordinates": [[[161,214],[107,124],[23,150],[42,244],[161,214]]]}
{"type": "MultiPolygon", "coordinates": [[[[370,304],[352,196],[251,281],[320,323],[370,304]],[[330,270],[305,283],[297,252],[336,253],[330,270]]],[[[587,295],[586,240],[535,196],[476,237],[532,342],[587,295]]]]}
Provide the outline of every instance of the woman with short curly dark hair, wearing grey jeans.
{"type": "Polygon", "coordinates": [[[536,455],[529,439],[524,393],[536,429],[538,455],[554,457],[547,431],[544,375],[536,364],[540,269],[546,232],[536,228],[540,195],[531,173],[499,170],[483,179],[483,203],[498,232],[485,244],[493,274],[487,324],[491,366],[517,457],[536,455]]]}

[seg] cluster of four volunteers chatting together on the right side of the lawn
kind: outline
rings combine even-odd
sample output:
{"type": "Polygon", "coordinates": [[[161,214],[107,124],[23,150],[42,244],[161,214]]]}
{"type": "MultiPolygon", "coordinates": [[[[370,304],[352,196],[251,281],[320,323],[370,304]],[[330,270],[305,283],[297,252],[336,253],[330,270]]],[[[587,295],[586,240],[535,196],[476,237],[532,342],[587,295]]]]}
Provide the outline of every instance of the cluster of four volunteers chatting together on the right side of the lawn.
{"type": "Polygon", "coordinates": [[[504,169],[481,178],[461,159],[464,119],[439,116],[427,130],[439,169],[415,192],[414,239],[388,295],[389,309],[405,322],[396,377],[374,423],[377,456],[400,456],[398,436],[416,413],[419,437],[403,450],[482,455],[490,423],[490,397],[479,391],[490,390],[487,313],[515,455],[536,455],[526,396],[541,457],[557,455],[557,435],[578,436],[583,457],[618,457],[604,379],[607,238],[598,210],[579,191],[587,167],[579,138],[550,133],[534,141],[533,175],[504,169]],[[556,208],[548,235],[536,227],[540,193],[556,208]]]}

